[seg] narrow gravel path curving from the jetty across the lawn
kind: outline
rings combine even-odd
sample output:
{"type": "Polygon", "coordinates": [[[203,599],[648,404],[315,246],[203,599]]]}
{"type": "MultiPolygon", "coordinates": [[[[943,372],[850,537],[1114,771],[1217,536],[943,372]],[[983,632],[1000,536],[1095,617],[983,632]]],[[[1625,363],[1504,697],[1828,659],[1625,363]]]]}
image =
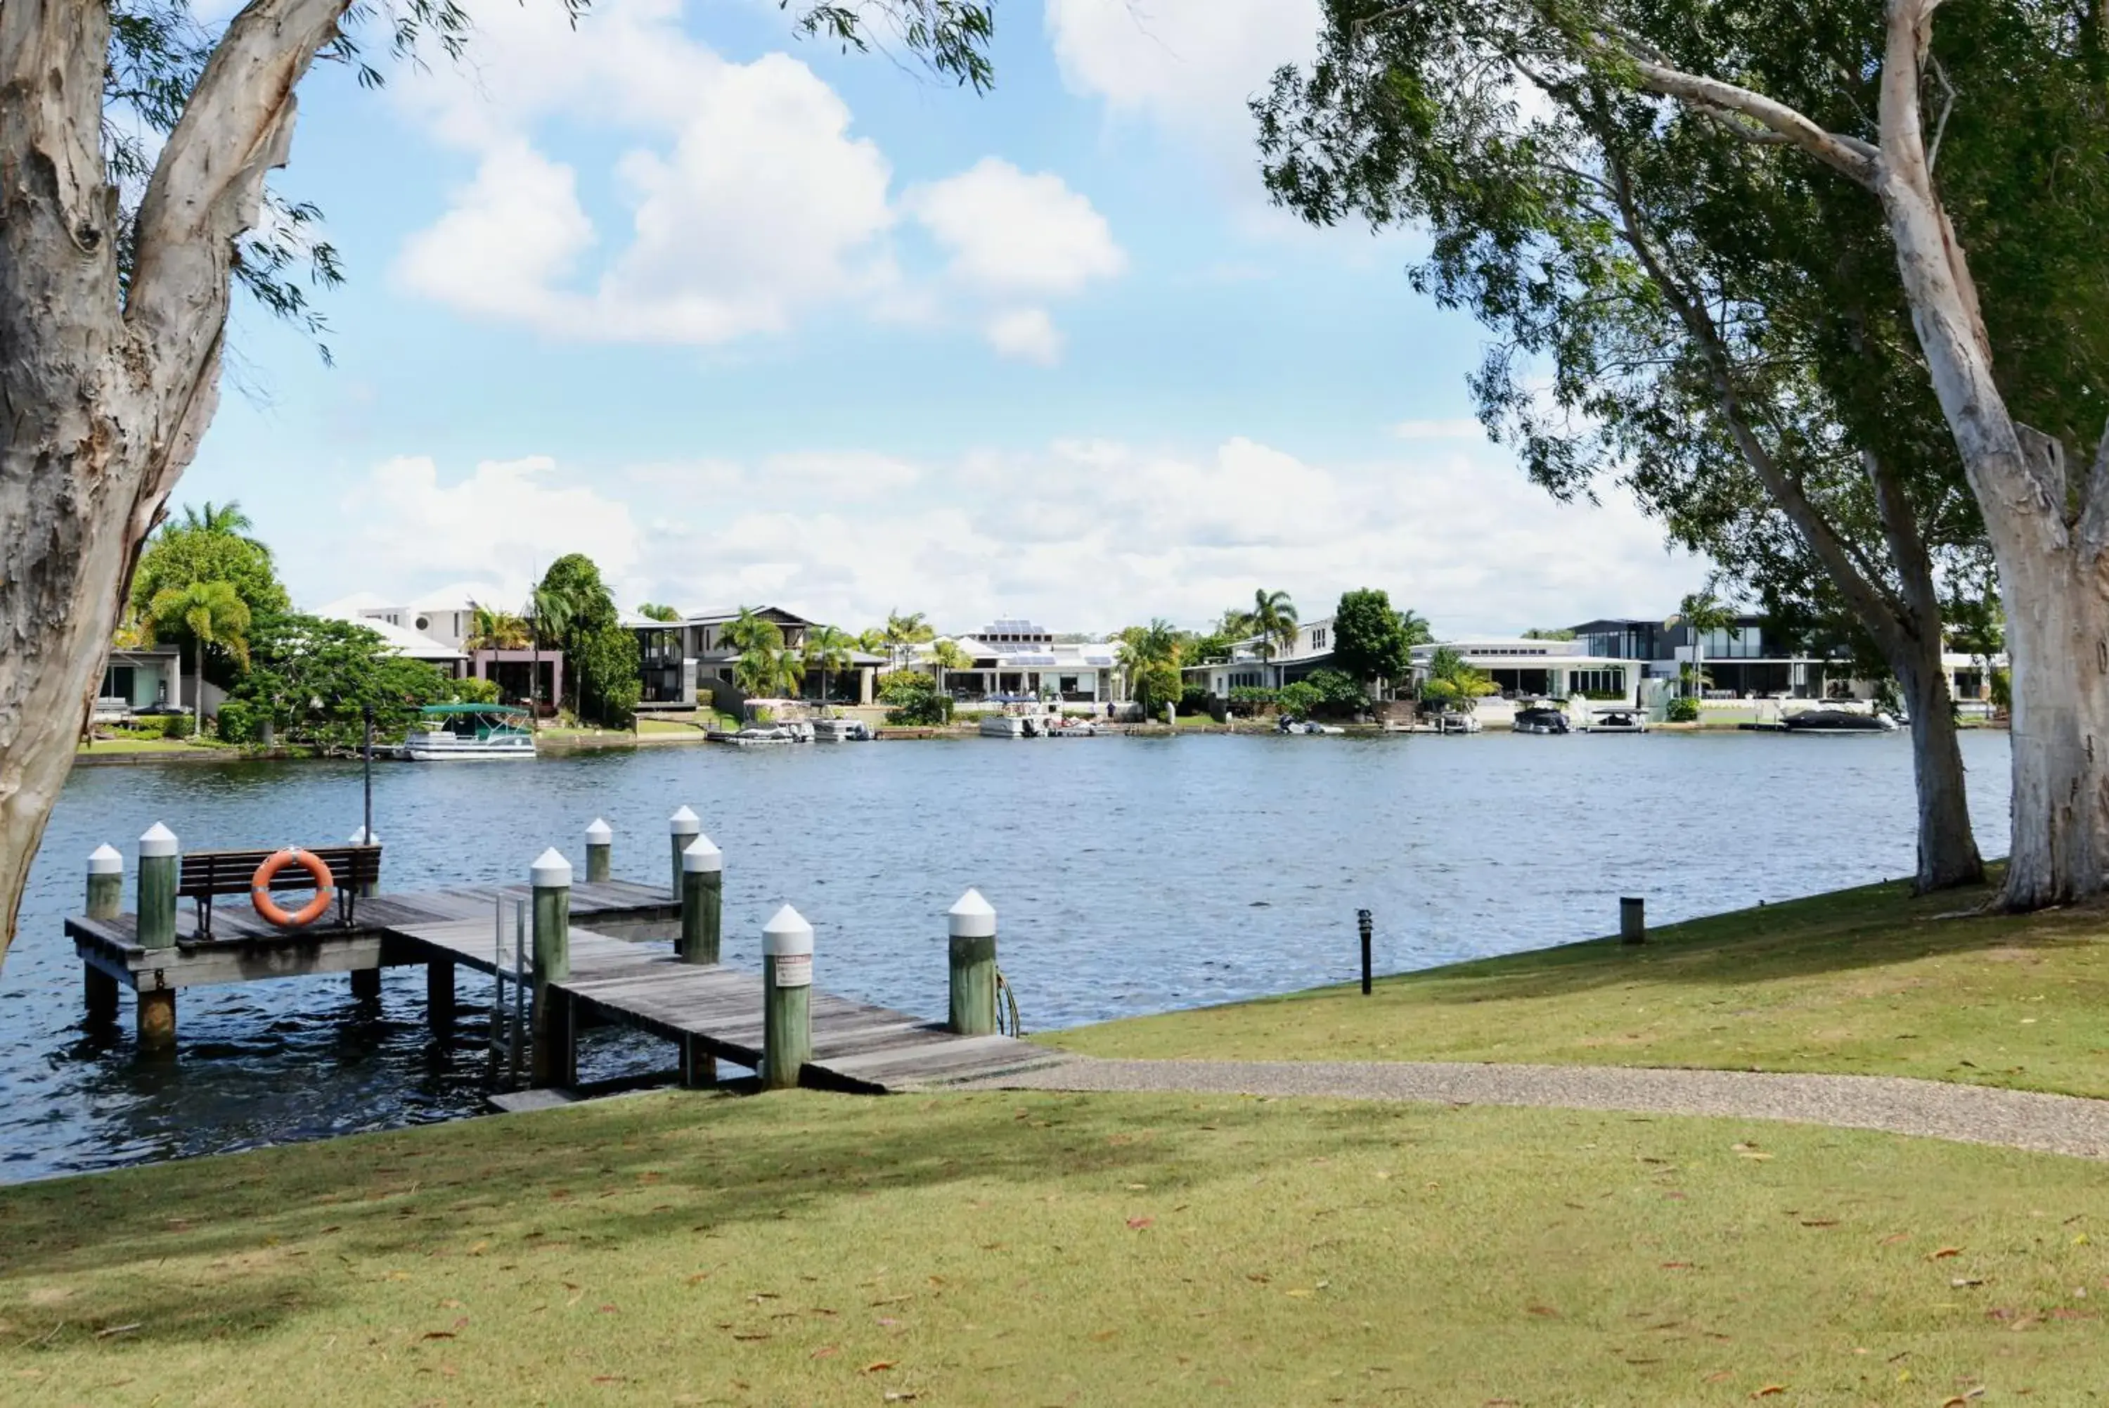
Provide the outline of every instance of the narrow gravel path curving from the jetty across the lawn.
{"type": "Polygon", "coordinates": [[[1900,1077],[1432,1062],[1152,1062],[1078,1055],[964,1087],[1335,1096],[1725,1115],[2109,1159],[2109,1100],[1900,1077]]]}

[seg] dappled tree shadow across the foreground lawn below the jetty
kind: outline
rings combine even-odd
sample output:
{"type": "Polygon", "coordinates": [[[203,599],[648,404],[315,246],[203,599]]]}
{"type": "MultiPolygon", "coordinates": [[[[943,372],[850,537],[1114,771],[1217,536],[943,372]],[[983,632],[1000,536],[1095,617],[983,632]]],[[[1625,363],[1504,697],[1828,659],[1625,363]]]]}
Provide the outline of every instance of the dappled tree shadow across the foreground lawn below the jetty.
{"type": "MultiPolygon", "coordinates": [[[[0,1315],[11,1349],[116,1326],[131,1328],[112,1347],[190,1345],[340,1309],[359,1279],[434,1258],[673,1254],[742,1222],[962,1182],[1170,1191],[1198,1176],[1202,1127],[1265,1106],[1154,1098],[1141,1115],[1090,1096],[669,1093],[23,1184],[0,1191],[0,1315]],[[352,1279],[314,1275],[340,1260],[352,1279]]],[[[1303,1117],[1305,1155],[1386,1138],[1354,1110],[1303,1117]]]]}

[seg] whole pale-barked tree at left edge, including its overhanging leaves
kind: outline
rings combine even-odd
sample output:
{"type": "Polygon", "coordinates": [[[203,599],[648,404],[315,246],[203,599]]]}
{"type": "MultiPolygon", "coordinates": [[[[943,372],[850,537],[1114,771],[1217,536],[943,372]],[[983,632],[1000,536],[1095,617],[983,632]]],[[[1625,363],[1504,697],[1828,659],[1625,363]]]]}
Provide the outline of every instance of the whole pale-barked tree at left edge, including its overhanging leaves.
{"type": "MultiPolygon", "coordinates": [[[[578,15],[586,0],[553,0],[578,15]]],[[[943,78],[991,80],[993,0],[780,0],[808,34],[888,30],[943,78]]],[[[470,40],[456,0],[0,4],[0,956],[74,758],[139,549],[219,401],[228,308],[321,321],[340,279],[316,211],[274,196],[321,57],[382,74],[470,40]]]]}

